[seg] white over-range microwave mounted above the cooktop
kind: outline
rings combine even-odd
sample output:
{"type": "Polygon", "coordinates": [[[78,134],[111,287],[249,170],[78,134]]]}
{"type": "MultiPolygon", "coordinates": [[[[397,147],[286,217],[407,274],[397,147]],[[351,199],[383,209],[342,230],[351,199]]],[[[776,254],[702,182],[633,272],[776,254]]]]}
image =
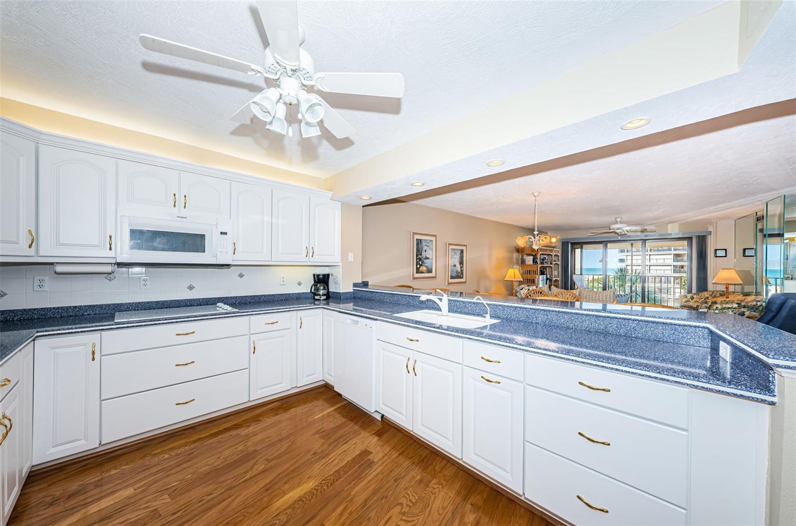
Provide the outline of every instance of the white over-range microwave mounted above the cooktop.
{"type": "Polygon", "coordinates": [[[119,216],[118,263],[227,266],[232,264],[229,220],[185,216],[119,216]]]}

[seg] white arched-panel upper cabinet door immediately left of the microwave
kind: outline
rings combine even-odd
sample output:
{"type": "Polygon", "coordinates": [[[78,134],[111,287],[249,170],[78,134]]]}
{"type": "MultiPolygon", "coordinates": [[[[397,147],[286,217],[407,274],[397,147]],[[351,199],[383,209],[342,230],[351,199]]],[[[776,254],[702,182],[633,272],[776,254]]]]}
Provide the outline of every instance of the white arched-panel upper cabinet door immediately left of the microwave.
{"type": "Polygon", "coordinates": [[[40,145],[38,255],[113,257],[116,160],[40,145]]]}

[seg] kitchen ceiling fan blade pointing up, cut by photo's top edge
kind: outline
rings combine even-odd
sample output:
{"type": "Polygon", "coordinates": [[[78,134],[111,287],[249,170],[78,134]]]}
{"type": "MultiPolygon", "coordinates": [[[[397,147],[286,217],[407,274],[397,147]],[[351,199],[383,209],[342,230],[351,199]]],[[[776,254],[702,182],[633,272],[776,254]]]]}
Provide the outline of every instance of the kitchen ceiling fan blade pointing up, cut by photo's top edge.
{"type": "Polygon", "coordinates": [[[298,10],[295,0],[259,0],[259,18],[268,36],[274,58],[288,68],[298,69],[298,10]]]}

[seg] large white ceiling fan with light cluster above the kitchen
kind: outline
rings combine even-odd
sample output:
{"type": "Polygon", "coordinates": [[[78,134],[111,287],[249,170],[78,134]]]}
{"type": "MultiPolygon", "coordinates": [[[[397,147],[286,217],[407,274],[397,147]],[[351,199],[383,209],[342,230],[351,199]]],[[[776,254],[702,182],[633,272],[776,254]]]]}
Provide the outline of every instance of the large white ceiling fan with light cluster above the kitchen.
{"type": "Polygon", "coordinates": [[[316,73],[312,56],[301,49],[304,30],[298,26],[296,0],[268,0],[256,4],[270,43],[265,49],[262,67],[152,35],[142,34],[139,41],[150,51],[273,80],[275,87],[266,88],[248,101],[232,115],[232,120],[248,124],[255,116],[267,123],[268,130],[278,134],[292,136],[286,115],[287,107],[294,104],[298,104],[302,137],[321,134],[318,127],[321,122],[337,138],[353,134],[353,127],[337,111],[316,93],[307,92],[306,88],[381,97],[404,95],[404,76],[400,73],[316,73]]]}

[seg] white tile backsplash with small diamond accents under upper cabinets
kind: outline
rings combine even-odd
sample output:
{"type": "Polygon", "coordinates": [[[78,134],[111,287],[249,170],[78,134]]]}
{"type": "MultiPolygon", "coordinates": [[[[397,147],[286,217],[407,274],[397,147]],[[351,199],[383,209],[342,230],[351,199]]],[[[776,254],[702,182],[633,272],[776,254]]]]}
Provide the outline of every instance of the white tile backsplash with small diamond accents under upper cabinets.
{"type": "MultiPolygon", "coordinates": [[[[122,268],[108,281],[104,275],[55,275],[51,264],[2,264],[0,289],[6,296],[0,298],[0,310],[307,292],[316,272],[330,272],[334,281],[340,267],[122,268]],[[38,275],[48,276],[49,291],[33,292],[33,276],[38,275]],[[150,276],[149,289],[141,289],[142,275],[150,276]],[[279,285],[279,276],[285,276],[287,285],[279,285]]],[[[330,283],[330,288],[338,287],[330,283]]]]}

